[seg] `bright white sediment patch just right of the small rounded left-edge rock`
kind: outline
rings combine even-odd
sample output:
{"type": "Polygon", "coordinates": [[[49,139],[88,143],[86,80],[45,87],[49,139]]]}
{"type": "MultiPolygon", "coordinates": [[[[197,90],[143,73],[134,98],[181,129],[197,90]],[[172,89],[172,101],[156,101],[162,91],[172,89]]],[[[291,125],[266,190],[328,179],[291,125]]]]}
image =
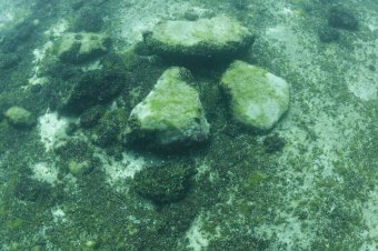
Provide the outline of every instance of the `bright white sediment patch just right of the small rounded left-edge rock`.
{"type": "Polygon", "coordinates": [[[57,112],[48,112],[39,118],[39,131],[46,151],[52,150],[53,145],[67,137],[66,129],[69,120],[59,118],[57,112]]]}

